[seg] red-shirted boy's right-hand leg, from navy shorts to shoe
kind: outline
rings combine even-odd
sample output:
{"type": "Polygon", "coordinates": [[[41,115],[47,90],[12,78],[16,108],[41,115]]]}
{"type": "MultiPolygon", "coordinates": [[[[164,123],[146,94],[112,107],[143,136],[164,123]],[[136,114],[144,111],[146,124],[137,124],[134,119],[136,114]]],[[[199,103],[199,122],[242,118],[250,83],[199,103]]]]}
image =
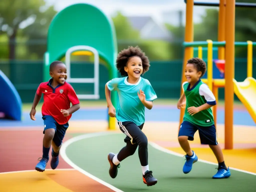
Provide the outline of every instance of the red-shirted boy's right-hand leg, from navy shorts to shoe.
{"type": "Polygon", "coordinates": [[[51,168],[56,169],[59,164],[59,151],[63,138],[68,129],[68,123],[64,125],[57,124],[56,133],[52,139],[52,152],[51,152],[51,168]]]}

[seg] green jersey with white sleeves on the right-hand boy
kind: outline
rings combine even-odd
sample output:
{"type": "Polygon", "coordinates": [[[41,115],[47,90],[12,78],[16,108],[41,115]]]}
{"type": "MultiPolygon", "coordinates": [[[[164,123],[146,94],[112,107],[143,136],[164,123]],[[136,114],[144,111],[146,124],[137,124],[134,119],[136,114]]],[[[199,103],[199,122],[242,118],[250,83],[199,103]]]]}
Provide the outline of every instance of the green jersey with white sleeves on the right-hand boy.
{"type": "Polygon", "coordinates": [[[216,99],[209,87],[199,80],[192,88],[187,81],[182,84],[186,96],[186,109],[184,114],[184,121],[199,126],[211,126],[214,124],[214,117],[211,108],[200,111],[196,114],[189,115],[188,108],[191,106],[199,107],[205,103],[209,105],[216,105],[216,99]]]}

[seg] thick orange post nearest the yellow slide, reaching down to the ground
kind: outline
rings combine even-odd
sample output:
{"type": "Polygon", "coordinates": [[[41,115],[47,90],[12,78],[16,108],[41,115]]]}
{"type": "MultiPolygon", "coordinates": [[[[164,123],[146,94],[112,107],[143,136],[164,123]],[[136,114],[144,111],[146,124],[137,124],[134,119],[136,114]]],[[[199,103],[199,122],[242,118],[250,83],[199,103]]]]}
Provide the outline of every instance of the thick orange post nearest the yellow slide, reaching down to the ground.
{"type": "Polygon", "coordinates": [[[225,149],[233,149],[235,0],[226,2],[225,149]]]}

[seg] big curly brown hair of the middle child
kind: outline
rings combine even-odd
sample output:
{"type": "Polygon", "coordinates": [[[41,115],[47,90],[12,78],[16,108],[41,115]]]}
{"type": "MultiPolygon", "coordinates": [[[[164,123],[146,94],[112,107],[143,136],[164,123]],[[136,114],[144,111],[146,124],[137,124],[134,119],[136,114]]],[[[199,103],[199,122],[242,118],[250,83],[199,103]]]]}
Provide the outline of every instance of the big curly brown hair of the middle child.
{"type": "Polygon", "coordinates": [[[121,73],[121,76],[126,77],[128,76],[127,72],[124,70],[124,67],[127,65],[127,62],[131,57],[140,57],[142,60],[142,67],[143,72],[147,72],[150,67],[150,62],[148,60],[148,57],[145,55],[145,53],[141,50],[140,47],[128,47],[128,49],[124,49],[121,52],[119,52],[117,58],[116,58],[116,68],[121,73]]]}

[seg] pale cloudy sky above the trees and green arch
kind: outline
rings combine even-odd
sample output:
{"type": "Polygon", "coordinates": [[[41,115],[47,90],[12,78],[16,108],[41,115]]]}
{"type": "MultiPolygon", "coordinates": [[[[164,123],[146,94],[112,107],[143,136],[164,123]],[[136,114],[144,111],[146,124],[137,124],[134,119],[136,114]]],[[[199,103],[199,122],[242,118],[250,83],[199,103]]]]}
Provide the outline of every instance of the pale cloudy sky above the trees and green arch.
{"type": "MultiPolygon", "coordinates": [[[[106,15],[113,16],[121,11],[125,16],[152,16],[159,23],[178,24],[178,10],[184,11],[183,24],[185,24],[186,4],[184,0],[45,0],[47,5],[54,5],[55,10],[76,3],[89,3],[100,8],[106,15]],[[168,15],[163,17],[163,13],[168,15]]],[[[195,2],[219,2],[219,0],[195,0],[195,2]]],[[[194,6],[193,19],[200,22],[200,16],[205,14],[205,9],[210,7],[194,6]]]]}

